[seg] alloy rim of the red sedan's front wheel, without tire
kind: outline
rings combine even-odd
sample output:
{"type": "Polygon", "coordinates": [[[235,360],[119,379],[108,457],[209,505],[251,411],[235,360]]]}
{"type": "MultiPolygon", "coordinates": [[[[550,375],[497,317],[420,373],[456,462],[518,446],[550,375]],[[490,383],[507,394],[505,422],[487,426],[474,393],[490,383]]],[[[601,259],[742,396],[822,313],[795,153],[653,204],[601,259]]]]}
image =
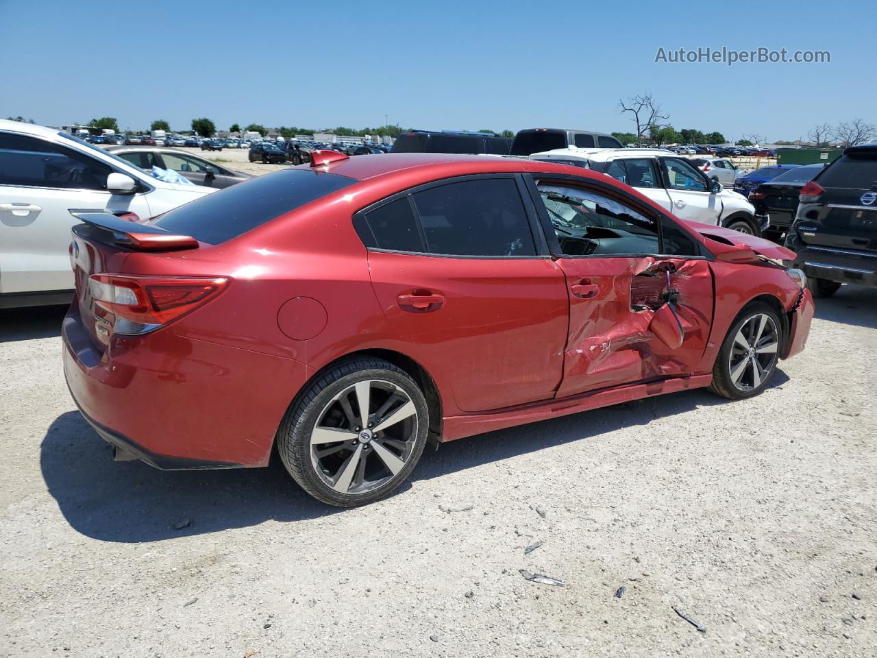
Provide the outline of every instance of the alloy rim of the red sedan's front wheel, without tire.
{"type": "Polygon", "coordinates": [[[738,390],[750,391],[761,386],[776,363],[780,333],[774,318],[756,313],[748,318],[731,346],[729,372],[738,390]]]}

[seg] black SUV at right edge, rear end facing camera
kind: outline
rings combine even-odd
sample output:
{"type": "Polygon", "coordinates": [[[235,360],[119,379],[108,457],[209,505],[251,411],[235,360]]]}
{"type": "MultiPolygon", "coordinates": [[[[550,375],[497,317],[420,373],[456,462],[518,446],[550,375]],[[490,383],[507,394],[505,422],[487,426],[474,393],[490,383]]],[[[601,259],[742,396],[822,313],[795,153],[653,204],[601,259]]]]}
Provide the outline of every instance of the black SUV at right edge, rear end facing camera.
{"type": "Polygon", "coordinates": [[[849,147],[801,189],[786,247],[816,297],[877,287],[877,144],[849,147]]]}

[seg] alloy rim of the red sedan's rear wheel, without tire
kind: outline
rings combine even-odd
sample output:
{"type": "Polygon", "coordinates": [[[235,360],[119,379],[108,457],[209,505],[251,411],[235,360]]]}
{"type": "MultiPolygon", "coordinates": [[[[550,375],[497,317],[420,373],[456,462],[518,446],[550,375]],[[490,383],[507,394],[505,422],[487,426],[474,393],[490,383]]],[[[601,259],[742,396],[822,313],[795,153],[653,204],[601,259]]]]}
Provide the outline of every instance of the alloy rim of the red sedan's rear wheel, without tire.
{"type": "Polygon", "coordinates": [[[317,416],[310,462],[324,484],[358,495],[389,483],[417,443],[417,408],[395,383],[369,379],[339,392],[317,416]]]}

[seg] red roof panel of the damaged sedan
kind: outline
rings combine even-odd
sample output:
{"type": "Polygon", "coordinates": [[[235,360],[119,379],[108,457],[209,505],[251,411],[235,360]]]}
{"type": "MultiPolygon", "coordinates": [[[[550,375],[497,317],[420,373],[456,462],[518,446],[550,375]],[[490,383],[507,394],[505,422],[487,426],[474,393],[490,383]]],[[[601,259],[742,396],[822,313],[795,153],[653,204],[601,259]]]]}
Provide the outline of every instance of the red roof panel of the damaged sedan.
{"type": "MultiPolygon", "coordinates": [[[[300,165],[305,167],[306,165],[300,165]]],[[[587,169],[526,158],[472,154],[389,153],[380,158],[346,158],[320,168],[358,181],[417,169],[424,178],[472,174],[511,174],[520,172],[571,174],[585,178],[601,177],[587,169]]]]}

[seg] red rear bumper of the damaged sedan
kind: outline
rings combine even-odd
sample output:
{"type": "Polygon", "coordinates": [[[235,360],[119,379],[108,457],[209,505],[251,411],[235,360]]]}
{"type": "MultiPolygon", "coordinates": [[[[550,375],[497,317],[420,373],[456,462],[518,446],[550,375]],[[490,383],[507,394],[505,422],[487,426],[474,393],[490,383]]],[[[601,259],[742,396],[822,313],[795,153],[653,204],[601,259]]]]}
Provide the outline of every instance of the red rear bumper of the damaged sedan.
{"type": "Polygon", "coordinates": [[[156,467],[267,465],[277,427],[306,381],[302,363],[182,338],[173,327],[96,349],[73,304],[64,375],[96,432],[156,467]]]}

